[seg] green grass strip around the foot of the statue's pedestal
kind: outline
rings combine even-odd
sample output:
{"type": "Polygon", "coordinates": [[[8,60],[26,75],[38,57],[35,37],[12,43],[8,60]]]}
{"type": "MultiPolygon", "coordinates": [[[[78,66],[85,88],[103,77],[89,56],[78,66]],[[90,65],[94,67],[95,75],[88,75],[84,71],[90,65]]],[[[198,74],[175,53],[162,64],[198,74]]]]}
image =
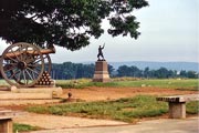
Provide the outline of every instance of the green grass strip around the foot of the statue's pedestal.
{"type": "Polygon", "coordinates": [[[112,79],[112,82],[101,83],[101,82],[92,82],[91,79],[80,79],[80,80],[59,80],[56,81],[57,86],[62,86],[64,89],[84,89],[86,86],[102,86],[102,88],[140,88],[140,86],[155,86],[155,88],[164,88],[164,89],[177,89],[177,90],[189,90],[189,91],[198,91],[199,82],[198,79],[112,79]]]}

